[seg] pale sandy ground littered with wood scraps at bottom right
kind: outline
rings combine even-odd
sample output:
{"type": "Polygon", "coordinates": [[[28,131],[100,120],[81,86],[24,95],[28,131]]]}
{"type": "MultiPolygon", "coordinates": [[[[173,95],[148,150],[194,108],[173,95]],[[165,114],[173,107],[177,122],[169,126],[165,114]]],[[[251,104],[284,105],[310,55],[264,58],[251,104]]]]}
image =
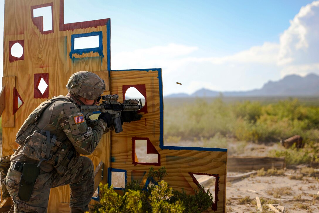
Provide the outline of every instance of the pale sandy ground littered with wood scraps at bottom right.
{"type": "Polygon", "coordinates": [[[226,212],[257,212],[256,196],[262,200],[262,205],[265,204],[263,200],[269,201],[271,199],[270,203],[274,206],[285,206],[286,212],[319,212],[318,178],[289,179],[289,174],[294,172],[294,170],[286,170],[287,176],[254,176],[227,182],[226,212]],[[287,193],[284,192],[283,187],[288,188],[287,193]],[[277,195],[270,193],[276,191],[279,191],[277,195]],[[239,204],[240,197],[246,196],[252,200],[239,204]],[[314,196],[318,196],[318,198],[315,199],[314,196]]]}

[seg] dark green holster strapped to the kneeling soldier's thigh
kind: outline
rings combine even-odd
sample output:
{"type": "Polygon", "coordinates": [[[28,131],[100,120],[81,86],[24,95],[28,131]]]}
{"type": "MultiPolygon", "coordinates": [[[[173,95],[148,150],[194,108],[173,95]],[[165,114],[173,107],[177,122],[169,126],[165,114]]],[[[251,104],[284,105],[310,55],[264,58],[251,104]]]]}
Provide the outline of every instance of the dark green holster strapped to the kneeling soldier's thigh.
{"type": "Polygon", "coordinates": [[[40,168],[34,163],[25,163],[22,168],[22,175],[20,178],[18,196],[21,201],[28,201],[30,199],[33,185],[40,173],[40,168]]]}

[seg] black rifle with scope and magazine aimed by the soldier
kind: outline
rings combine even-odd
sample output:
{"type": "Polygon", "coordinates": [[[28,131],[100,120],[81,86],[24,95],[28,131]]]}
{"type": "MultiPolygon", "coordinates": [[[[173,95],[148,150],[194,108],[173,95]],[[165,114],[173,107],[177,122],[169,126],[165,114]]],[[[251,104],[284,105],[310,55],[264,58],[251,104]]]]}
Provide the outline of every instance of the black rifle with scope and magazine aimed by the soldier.
{"type": "Polygon", "coordinates": [[[118,102],[119,96],[115,95],[103,95],[102,103],[100,105],[89,106],[89,105],[81,105],[80,110],[83,114],[87,113],[86,116],[92,115],[95,111],[100,111],[101,113],[109,113],[112,114],[112,119],[114,123],[115,133],[119,133],[123,131],[122,122],[121,122],[121,113],[125,111],[133,112],[140,110],[142,108],[142,100],[141,99],[128,99],[124,100],[121,104],[118,102]]]}

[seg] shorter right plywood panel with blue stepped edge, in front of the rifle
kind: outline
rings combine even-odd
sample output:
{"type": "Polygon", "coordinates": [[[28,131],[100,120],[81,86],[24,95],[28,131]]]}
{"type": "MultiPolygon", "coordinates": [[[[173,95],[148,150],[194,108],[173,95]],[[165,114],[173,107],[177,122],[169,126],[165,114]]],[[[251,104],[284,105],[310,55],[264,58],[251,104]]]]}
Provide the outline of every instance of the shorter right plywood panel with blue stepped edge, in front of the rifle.
{"type": "MultiPolygon", "coordinates": [[[[126,173],[126,182],[140,178],[141,186],[147,183],[145,174],[152,166],[155,170],[165,166],[167,177],[164,179],[177,190],[182,188],[189,194],[197,189],[192,175],[215,176],[217,179],[216,194],[218,201],[213,205],[215,212],[225,212],[226,190],[226,149],[202,147],[176,147],[163,144],[163,94],[161,69],[116,70],[111,71],[111,93],[124,99],[123,89],[136,87],[141,94],[146,94],[147,113],[140,121],[124,123],[123,132],[111,133],[111,168],[108,172],[126,173]],[[143,85],[143,86],[141,86],[143,85]],[[145,91],[143,91],[145,88],[145,91]],[[159,162],[137,163],[135,160],[136,139],[149,139],[153,150],[150,153],[160,155],[159,162]],[[155,150],[154,150],[155,148],[155,150]],[[136,175],[138,174],[138,175],[136,175]],[[192,175],[191,175],[192,174],[192,175]],[[220,190],[220,191],[219,191],[220,190]]],[[[145,106],[144,106],[145,107],[145,106]]],[[[150,144],[147,144],[147,146],[150,144]]],[[[108,177],[111,177],[110,173],[108,177]]],[[[111,178],[109,179],[111,184],[111,178]]],[[[209,209],[210,212],[214,212],[209,209]]]]}

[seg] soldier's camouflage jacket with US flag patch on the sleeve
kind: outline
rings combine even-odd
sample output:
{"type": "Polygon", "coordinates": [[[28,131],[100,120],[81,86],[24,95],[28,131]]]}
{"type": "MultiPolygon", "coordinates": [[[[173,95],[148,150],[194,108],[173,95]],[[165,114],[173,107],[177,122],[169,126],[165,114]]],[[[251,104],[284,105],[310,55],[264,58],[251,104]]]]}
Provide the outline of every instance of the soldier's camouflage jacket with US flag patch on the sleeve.
{"type": "MultiPolygon", "coordinates": [[[[49,130],[51,135],[55,134],[58,141],[69,140],[78,154],[90,155],[102,134],[111,128],[107,128],[106,122],[102,119],[91,122],[89,127],[75,100],[70,96],[64,97],[69,101],[53,102],[42,112],[36,126],[41,130],[49,130]]],[[[24,155],[22,146],[11,156],[11,162],[17,160],[33,161],[24,155]]],[[[53,170],[52,165],[47,162],[42,162],[40,168],[47,172],[53,170]]]]}

